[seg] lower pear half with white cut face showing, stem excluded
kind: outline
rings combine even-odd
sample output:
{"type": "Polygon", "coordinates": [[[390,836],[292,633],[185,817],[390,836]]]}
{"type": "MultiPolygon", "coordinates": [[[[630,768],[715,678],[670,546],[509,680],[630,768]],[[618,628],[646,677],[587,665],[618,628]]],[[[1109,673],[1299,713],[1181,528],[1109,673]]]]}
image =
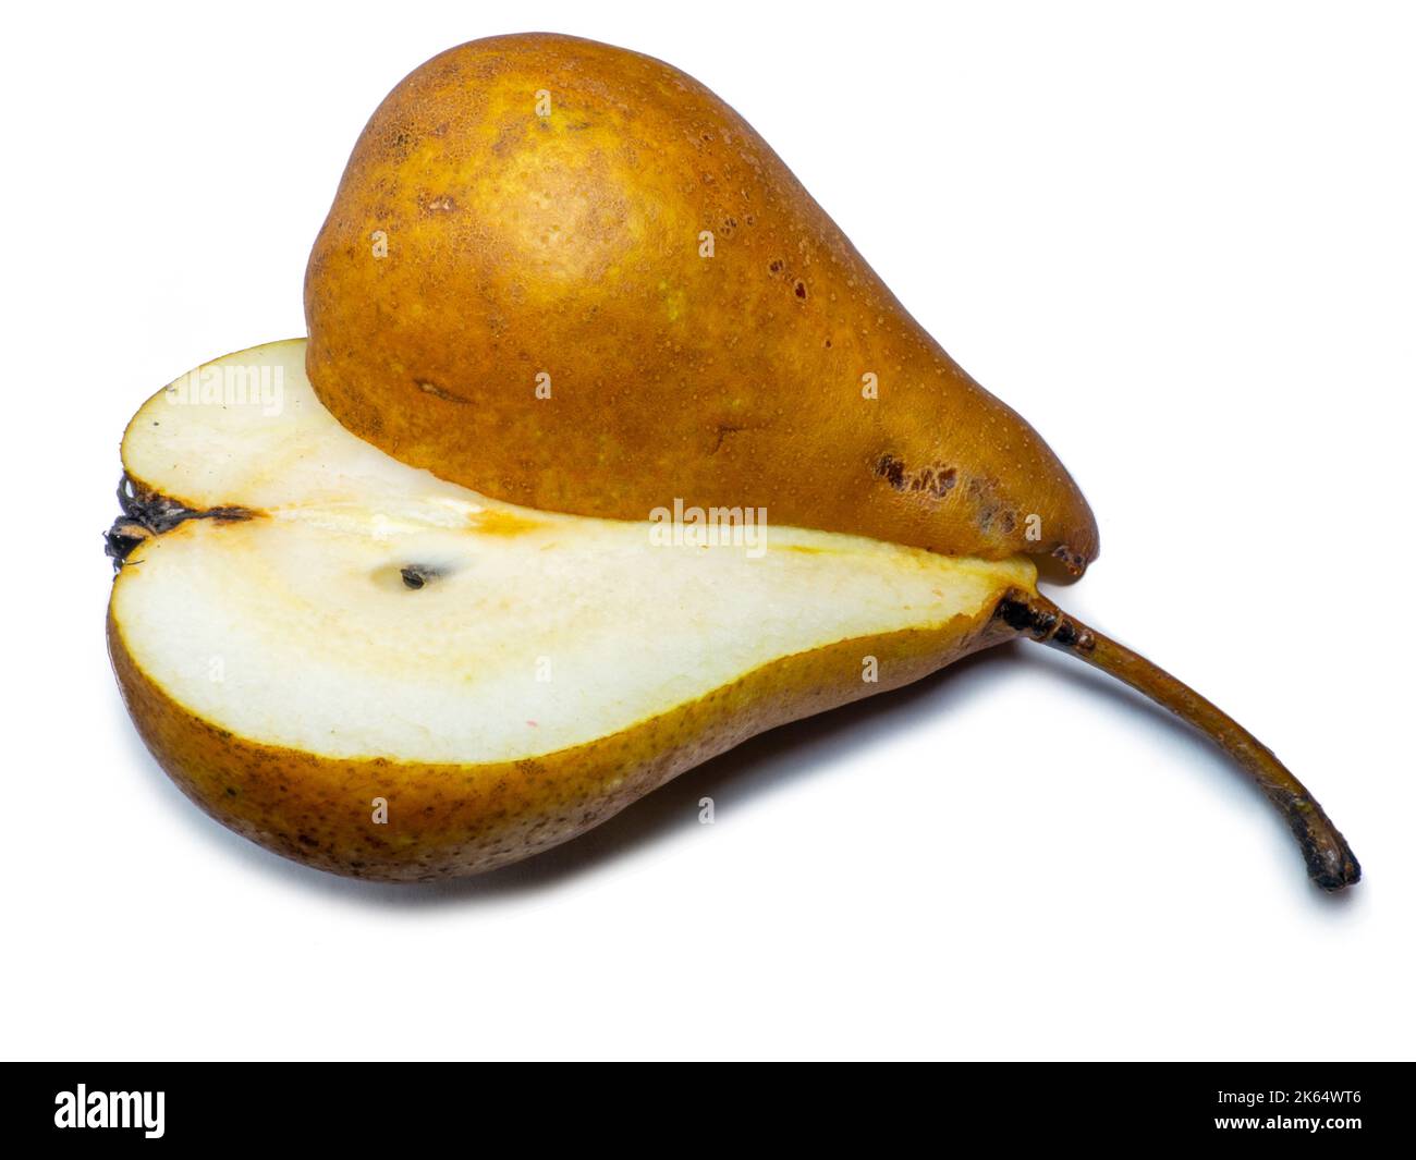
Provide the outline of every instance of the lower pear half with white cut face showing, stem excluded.
{"type": "Polygon", "coordinates": [[[1000,599],[1035,581],[1021,557],[770,511],[700,542],[650,513],[489,500],[341,428],[303,340],[157,392],[123,466],[132,511],[161,513],[110,605],[144,738],[221,820],[354,874],[564,840],[763,728],[991,643],[1000,599]]]}

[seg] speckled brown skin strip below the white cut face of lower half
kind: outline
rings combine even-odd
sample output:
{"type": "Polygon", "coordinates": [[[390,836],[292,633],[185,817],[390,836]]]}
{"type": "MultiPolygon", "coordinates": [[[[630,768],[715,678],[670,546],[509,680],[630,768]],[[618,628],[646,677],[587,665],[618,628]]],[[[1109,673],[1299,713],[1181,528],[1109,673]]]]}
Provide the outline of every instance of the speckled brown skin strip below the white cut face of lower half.
{"type": "MultiPolygon", "coordinates": [[[[120,572],[115,585],[133,575],[120,572]]],[[[1000,601],[1005,588],[1000,584],[1000,601]]],[[[147,748],[217,821],[319,870],[412,882],[538,854],[755,734],[896,688],[1007,640],[1015,630],[993,618],[995,603],[927,630],[789,656],[622,732],[494,765],[347,761],[252,742],[159,688],[133,661],[112,612],[108,644],[147,748]],[[878,661],[878,683],[861,678],[865,656],[878,661]],[[387,824],[372,821],[375,797],[388,803],[387,824]]]]}

